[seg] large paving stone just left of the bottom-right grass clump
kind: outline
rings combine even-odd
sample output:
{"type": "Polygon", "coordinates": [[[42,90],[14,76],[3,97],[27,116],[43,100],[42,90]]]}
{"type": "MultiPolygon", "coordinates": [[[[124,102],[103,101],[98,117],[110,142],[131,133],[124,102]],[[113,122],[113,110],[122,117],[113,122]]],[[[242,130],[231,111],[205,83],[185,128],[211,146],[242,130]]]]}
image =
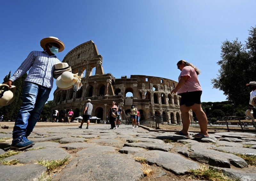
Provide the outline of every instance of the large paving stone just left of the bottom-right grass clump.
{"type": "Polygon", "coordinates": [[[165,170],[171,171],[175,175],[184,175],[188,172],[189,169],[199,168],[199,165],[196,162],[186,159],[176,153],[151,150],[136,153],[134,156],[145,157],[148,163],[161,166],[165,170]]]}

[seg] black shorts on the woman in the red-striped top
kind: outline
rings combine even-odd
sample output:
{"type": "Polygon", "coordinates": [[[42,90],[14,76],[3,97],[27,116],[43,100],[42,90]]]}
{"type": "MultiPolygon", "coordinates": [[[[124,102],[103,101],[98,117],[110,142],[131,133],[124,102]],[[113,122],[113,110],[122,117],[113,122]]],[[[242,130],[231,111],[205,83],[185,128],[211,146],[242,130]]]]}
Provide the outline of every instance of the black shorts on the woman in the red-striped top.
{"type": "Polygon", "coordinates": [[[181,96],[180,106],[185,104],[188,107],[194,104],[201,104],[202,91],[184,92],[178,95],[181,96]]]}

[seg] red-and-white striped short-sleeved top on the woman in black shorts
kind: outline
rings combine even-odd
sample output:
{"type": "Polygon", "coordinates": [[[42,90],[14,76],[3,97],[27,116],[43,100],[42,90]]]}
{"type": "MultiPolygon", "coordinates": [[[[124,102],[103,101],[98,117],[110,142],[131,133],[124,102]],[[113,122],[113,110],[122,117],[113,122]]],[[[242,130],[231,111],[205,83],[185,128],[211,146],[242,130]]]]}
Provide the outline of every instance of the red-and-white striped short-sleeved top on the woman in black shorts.
{"type": "Polygon", "coordinates": [[[188,76],[186,82],[178,90],[178,94],[184,92],[202,91],[196,70],[193,67],[185,66],[180,73],[179,81],[182,76],[188,76]]]}

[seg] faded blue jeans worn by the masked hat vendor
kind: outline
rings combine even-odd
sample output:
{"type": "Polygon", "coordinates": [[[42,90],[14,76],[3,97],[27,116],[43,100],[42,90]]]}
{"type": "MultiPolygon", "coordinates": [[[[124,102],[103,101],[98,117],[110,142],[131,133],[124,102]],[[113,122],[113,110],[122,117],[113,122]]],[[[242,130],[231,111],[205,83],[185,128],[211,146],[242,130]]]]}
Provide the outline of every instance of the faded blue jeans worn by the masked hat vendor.
{"type": "Polygon", "coordinates": [[[51,88],[32,82],[25,82],[23,89],[23,103],[18,112],[12,138],[21,135],[29,136],[36,126],[45,102],[49,98],[51,88]]]}

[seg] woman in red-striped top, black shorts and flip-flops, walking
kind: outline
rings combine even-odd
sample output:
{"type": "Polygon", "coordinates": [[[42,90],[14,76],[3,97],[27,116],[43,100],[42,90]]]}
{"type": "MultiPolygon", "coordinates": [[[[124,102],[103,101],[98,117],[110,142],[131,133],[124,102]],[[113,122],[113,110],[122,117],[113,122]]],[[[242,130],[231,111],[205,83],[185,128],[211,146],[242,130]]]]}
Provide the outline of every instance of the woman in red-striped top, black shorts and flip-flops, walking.
{"type": "Polygon", "coordinates": [[[191,63],[185,60],[180,60],[177,63],[178,69],[181,71],[179,76],[179,83],[171,91],[171,94],[178,93],[180,98],[180,112],[182,117],[183,127],[181,131],[175,134],[182,136],[189,136],[188,128],[190,124],[189,111],[195,112],[196,118],[200,126],[200,132],[193,135],[194,138],[208,138],[209,134],[207,132],[207,117],[201,106],[201,95],[202,88],[198,81],[198,76],[200,71],[191,63]]]}

